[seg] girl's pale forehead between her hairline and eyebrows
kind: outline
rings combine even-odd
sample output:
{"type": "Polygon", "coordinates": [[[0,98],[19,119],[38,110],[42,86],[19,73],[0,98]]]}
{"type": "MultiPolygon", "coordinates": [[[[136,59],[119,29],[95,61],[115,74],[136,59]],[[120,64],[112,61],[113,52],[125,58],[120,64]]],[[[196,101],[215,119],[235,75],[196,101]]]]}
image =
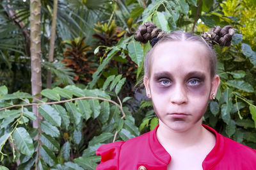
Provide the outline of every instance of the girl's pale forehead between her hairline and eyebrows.
{"type": "Polygon", "coordinates": [[[152,54],[151,72],[210,72],[207,50],[198,42],[164,42],[152,54]]]}

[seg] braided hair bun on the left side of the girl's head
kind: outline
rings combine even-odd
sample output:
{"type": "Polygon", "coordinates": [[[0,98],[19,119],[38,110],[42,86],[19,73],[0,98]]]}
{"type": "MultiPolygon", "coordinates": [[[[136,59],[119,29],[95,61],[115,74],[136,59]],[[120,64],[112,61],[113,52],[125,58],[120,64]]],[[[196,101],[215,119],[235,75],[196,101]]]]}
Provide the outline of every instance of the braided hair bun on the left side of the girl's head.
{"type": "Polygon", "coordinates": [[[134,39],[142,43],[147,43],[148,41],[150,41],[150,44],[154,46],[158,41],[158,38],[159,38],[158,36],[163,35],[163,33],[161,32],[163,31],[158,27],[156,27],[156,25],[153,24],[152,22],[145,22],[145,24],[140,25],[138,27],[136,31],[136,35],[134,36],[134,39]]]}

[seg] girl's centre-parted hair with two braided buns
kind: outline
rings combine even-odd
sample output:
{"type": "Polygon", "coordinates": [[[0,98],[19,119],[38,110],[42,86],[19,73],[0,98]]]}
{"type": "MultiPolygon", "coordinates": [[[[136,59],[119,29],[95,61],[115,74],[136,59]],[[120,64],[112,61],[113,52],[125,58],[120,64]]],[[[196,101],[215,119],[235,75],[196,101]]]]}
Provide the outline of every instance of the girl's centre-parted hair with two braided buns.
{"type": "Polygon", "coordinates": [[[221,28],[216,26],[212,28],[209,33],[202,33],[201,36],[197,36],[193,33],[173,31],[171,33],[166,33],[159,29],[152,22],[145,22],[145,24],[138,27],[134,39],[141,43],[150,42],[152,49],[147,52],[144,61],[144,72],[145,76],[150,77],[150,68],[152,53],[155,47],[163,42],[177,42],[177,41],[189,41],[198,42],[205,46],[209,54],[211,77],[216,74],[216,53],[213,50],[213,45],[229,46],[234,35],[234,29],[232,26],[225,26],[221,28]]]}

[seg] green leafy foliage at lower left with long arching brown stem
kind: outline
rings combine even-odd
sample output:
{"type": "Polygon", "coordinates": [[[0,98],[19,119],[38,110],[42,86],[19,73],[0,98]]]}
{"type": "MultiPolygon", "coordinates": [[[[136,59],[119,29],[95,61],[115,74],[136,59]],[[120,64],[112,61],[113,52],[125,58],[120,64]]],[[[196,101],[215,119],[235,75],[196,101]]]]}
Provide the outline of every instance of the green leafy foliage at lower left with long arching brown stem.
{"type": "MultiPolygon", "coordinates": [[[[105,90],[81,89],[76,86],[44,89],[42,95],[50,102],[37,104],[38,112],[44,121],[40,123],[40,130],[33,133],[31,133],[33,128],[29,121],[26,121],[25,125],[22,121],[36,118],[31,112],[29,100],[26,99],[31,96],[20,92],[8,94],[8,89],[1,86],[1,103],[11,104],[8,109],[1,108],[0,111],[1,156],[10,157],[5,154],[5,148],[8,148],[6,143],[10,139],[10,143],[16,146],[12,150],[16,157],[13,157],[13,160],[28,157],[18,169],[33,166],[52,169],[70,169],[71,167],[95,169],[100,159],[94,155],[100,144],[118,139],[130,139],[139,135],[138,128],[134,125],[134,118],[131,115],[124,117],[124,106],[112,99],[118,98],[117,95],[124,82],[125,78],[122,79],[122,75],[117,75],[108,79],[104,85],[105,90]],[[24,99],[18,97],[17,94],[24,99]],[[111,97],[108,94],[111,94],[111,97]],[[25,100],[28,102],[24,103],[25,100]],[[95,128],[90,130],[92,126],[95,128]],[[108,132],[102,126],[109,127],[108,132]],[[86,128],[88,130],[84,132],[86,128]],[[93,135],[88,135],[88,133],[93,133],[93,135]],[[82,155],[83,152],[88,154],[86,150],[90,150],[89,157],[82,155]],[[35,163],[34,158],[38,151],[40,151],[40,158],[35,163]],[[77,157],[72,157],[75,153],[77,157]],[[69,160],[74,162],[67,162],[69,160]]],[[[121,100],[118,98],[118,101],[121,100]]]]}

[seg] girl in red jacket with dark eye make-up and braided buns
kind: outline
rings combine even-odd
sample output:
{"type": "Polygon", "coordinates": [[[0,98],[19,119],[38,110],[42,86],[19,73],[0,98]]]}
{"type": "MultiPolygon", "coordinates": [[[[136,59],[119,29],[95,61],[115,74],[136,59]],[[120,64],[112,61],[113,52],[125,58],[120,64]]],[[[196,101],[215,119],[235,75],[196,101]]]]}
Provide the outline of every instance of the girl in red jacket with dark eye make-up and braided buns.
{"type": "Polygon", "coordinates": [[[144,85],[159,125],[128,141],[96,151],[97,169],[256,169],[256,151],[202,125],[220,77],[211,45],[230,45],[234,29],[215,27],[202,37],[166,34],[151,22],[138,27],[135,40],[152,49],[145,58],[144,85]]]}

